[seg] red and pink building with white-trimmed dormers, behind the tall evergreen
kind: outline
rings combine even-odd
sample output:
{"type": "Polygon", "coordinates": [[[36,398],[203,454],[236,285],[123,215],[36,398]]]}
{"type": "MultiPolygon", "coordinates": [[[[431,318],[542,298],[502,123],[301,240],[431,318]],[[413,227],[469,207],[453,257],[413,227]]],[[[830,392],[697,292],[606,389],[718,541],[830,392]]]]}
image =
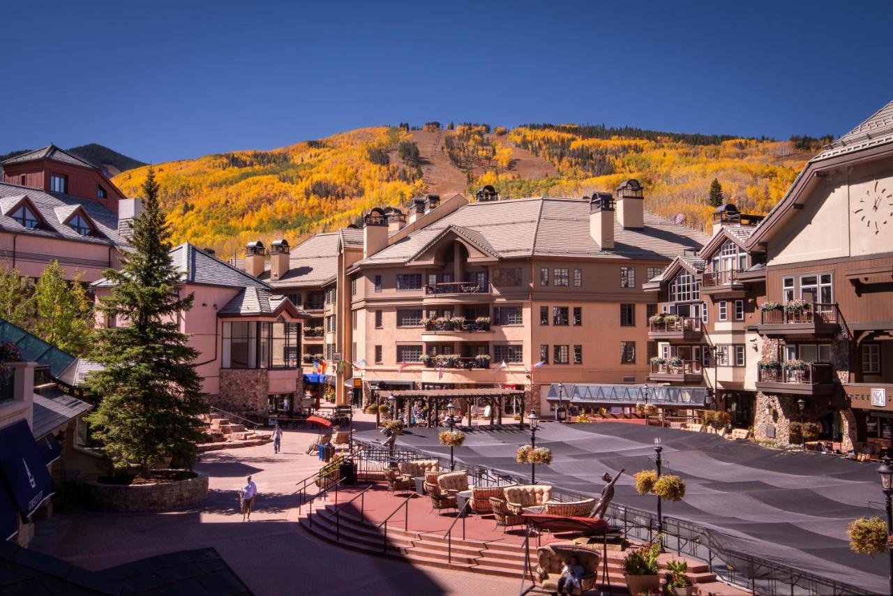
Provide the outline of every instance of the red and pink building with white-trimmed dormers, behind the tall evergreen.
{"type": "Polygon", "coordinates": [[[120,266],[128,220],[139,214],[93,164],[49,145],[0,163],[0,260],[37,278],[58,261],[69,279],[96,281],[120,266]]]}

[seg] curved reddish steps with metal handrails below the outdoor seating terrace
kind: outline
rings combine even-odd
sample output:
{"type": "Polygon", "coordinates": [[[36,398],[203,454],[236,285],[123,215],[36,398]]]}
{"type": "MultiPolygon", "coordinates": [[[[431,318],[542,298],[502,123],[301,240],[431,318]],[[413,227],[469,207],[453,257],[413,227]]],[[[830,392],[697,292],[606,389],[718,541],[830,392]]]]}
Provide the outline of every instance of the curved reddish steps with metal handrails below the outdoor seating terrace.
{"type": "MultiPolygon", "coordinates": [[[[430,567],[512,578],[520,578],[524,572],[524,551],[521,544],[509,541],[463,540],[461,521],[455,525],[453,539],[449,541],[444,532],[422,533],[397,527],[403,524],[402,516],[398,514],[392,522],[388,522],[386,536],[383,527],[361,519],[358,512],[353,510],[347,512],[346,509],[342,509],[337,518],[335,510],[330,500],[317,499],[312,504],[305,505],[300,515],[294,509],[289,514],[289,520],[297,522],[301,528],[316,538],[370,555],[396,558],[430,567]]],[[[613,594],[629,593],[622,573],[623,548],[622,543],[608,544],[607,567],[610,593],[613,594]]],[[[531,538],[530,561],[534,569],[537,565],[536,549],[536,539],[531,538]]],[[[661,555],[662,565],[672,558],[679,557],[661,555]]],[[[689,580],[697,583],[700,593],[723,596],[748,593],[719,582],[716,575],[709,572],[705,563],[686,560],[689,563],[689,580]]],[[[599,573],[601,574],[601,567],[599,573]]],[[[599,575],[598,589],[607,590],[607,583],[602,582],[603,579],[599,575]]]]}

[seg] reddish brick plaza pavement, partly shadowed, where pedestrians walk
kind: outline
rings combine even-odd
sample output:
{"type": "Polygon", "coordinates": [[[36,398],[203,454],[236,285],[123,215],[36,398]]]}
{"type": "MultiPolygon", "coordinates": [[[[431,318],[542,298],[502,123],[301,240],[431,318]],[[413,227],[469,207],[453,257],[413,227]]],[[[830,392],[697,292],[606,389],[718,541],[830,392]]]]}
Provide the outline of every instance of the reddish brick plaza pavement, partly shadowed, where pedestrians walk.
{"type": "MultiPolygon", "coordinates": [[[[355,416],[358,430],[374,416],[355,416]]],[[[272,444],[212,451],[196,469],[209,474],[210,492],[200,508],[157,514],[104,514],[79,508],[38,524],[31,548],[88,569],[102,569],[172,550],[213,547],[251,589],[263,594],[510,594],[521,578],[508,579],[370,557],[318,541],[301,530],[288,510],[295,483],[320,462],[305,455],[311,430],[286,431],[282,452],[272,444]],[[237,490],[253,474],[259,494],[251,522],[238,513],[237,490]]]]}

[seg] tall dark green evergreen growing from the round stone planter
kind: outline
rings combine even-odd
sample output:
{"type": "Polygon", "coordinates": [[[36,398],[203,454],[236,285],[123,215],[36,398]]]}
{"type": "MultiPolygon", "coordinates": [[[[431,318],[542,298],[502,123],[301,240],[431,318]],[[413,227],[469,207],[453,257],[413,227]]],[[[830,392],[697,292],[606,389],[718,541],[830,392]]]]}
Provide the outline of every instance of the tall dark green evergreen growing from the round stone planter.
{"type": "Polygon", "coordinates": [[[201,437],[196,416],[204,405],[202,379],[192,364],[198,352],[177,324],[193,295],[177,294],[171,231],[151,169],[143,193],[143,213],[134,219],[130,239],[134,251],[125,255],[121,271],[103,273],[113,289],[98,308],[123,324],[97,330],[92,359],[104,370],[91,374],[88,383],[101,397],[89,416],[94,436],[116,467],[138,464],[146,477],[165,457],[194,461],[201,437]]]}

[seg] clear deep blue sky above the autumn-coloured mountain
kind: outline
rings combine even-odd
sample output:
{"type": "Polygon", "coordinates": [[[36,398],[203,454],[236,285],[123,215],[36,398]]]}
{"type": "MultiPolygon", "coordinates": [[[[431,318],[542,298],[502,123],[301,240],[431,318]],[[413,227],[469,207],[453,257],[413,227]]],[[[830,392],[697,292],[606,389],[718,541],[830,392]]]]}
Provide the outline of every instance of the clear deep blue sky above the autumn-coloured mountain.
{"type": "Polygon", "coordinates": [[[888,2],[7,2],[0,153],[155,163],[428,120],[787,139],[893,98],[888,2]]]}

